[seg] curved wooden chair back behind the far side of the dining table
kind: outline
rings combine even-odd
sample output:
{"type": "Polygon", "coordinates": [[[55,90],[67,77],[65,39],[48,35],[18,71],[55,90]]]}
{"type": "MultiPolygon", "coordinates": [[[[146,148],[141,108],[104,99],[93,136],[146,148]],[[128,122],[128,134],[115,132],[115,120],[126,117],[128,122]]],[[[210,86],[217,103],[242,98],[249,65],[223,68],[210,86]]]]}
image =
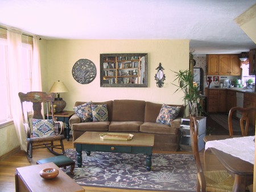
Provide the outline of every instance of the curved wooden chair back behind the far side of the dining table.
{"type": "Polygon", "coordinates": [[[240,119],[240,127],[242,136],[248,135],[248,129],[249,129],[249,114],[250,112],[256,111],[255,107],[232,107],[229,110],[229,116],[228,116],[228,126],[229,126],[229,136],[233,136],[233,126],[232,126],[232,116],[235,111],[241,111],[241,119],[240,119]]]}

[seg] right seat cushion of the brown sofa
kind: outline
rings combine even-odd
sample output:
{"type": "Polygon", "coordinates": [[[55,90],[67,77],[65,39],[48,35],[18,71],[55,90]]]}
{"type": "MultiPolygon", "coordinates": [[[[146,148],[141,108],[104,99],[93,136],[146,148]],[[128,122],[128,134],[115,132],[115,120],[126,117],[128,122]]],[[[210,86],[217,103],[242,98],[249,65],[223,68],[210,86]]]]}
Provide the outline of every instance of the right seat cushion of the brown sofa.
{"type": "Polygon", "coordinates": [[[139,128],[139,131],[144,133],[156,133],[156,134],[169,134],[175,135],[179,131],[179,128],[172,128],[166,124],[144,122],[139,128]]]}

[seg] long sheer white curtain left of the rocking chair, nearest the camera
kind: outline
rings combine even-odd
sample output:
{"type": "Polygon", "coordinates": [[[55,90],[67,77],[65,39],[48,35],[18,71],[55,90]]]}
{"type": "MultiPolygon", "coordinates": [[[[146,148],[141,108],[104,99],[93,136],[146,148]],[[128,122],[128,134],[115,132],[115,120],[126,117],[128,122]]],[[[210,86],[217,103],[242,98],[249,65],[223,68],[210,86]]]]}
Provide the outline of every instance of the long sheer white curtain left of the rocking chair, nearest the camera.
{"type": "Polygon", "coordinates": [[[13,115],[16,133],[19,138],[20,148],[26,151],[26,135],[22,125],[22,110],[18,97],[22,91],[22,32],[18,30],[7,30],[7,55],[8,55],[8,76],[10,87],[10,108],[13,115]]]}

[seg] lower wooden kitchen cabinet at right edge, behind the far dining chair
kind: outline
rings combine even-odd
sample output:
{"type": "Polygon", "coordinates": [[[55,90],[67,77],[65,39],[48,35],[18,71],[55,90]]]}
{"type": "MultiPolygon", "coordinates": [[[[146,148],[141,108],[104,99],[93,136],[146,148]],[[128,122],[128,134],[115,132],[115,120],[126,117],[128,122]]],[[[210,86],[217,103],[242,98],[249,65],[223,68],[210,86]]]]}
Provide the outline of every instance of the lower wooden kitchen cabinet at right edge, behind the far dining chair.
{"type": "MultiPolygon", "coordinates": [[[[243,94],[243,107],[256,107],[256,94],[243,94]]],[[[249,114],[249,123],[255,126],[255,111],[249,114]]]]}

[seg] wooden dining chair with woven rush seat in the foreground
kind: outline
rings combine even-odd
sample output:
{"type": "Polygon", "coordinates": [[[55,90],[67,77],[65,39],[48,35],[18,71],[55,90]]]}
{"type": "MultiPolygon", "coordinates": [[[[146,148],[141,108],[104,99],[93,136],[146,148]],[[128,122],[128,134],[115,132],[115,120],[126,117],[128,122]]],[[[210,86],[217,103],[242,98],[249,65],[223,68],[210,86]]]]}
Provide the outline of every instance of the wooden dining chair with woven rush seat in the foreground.
{"type": "Polygon", "coordinates": [[[197,167],[197,191],[232,191],[234,178],[226,170],[203,171],[198,150],[198,125],[195,115],[190,115],[190,136],[197,167]]]}

